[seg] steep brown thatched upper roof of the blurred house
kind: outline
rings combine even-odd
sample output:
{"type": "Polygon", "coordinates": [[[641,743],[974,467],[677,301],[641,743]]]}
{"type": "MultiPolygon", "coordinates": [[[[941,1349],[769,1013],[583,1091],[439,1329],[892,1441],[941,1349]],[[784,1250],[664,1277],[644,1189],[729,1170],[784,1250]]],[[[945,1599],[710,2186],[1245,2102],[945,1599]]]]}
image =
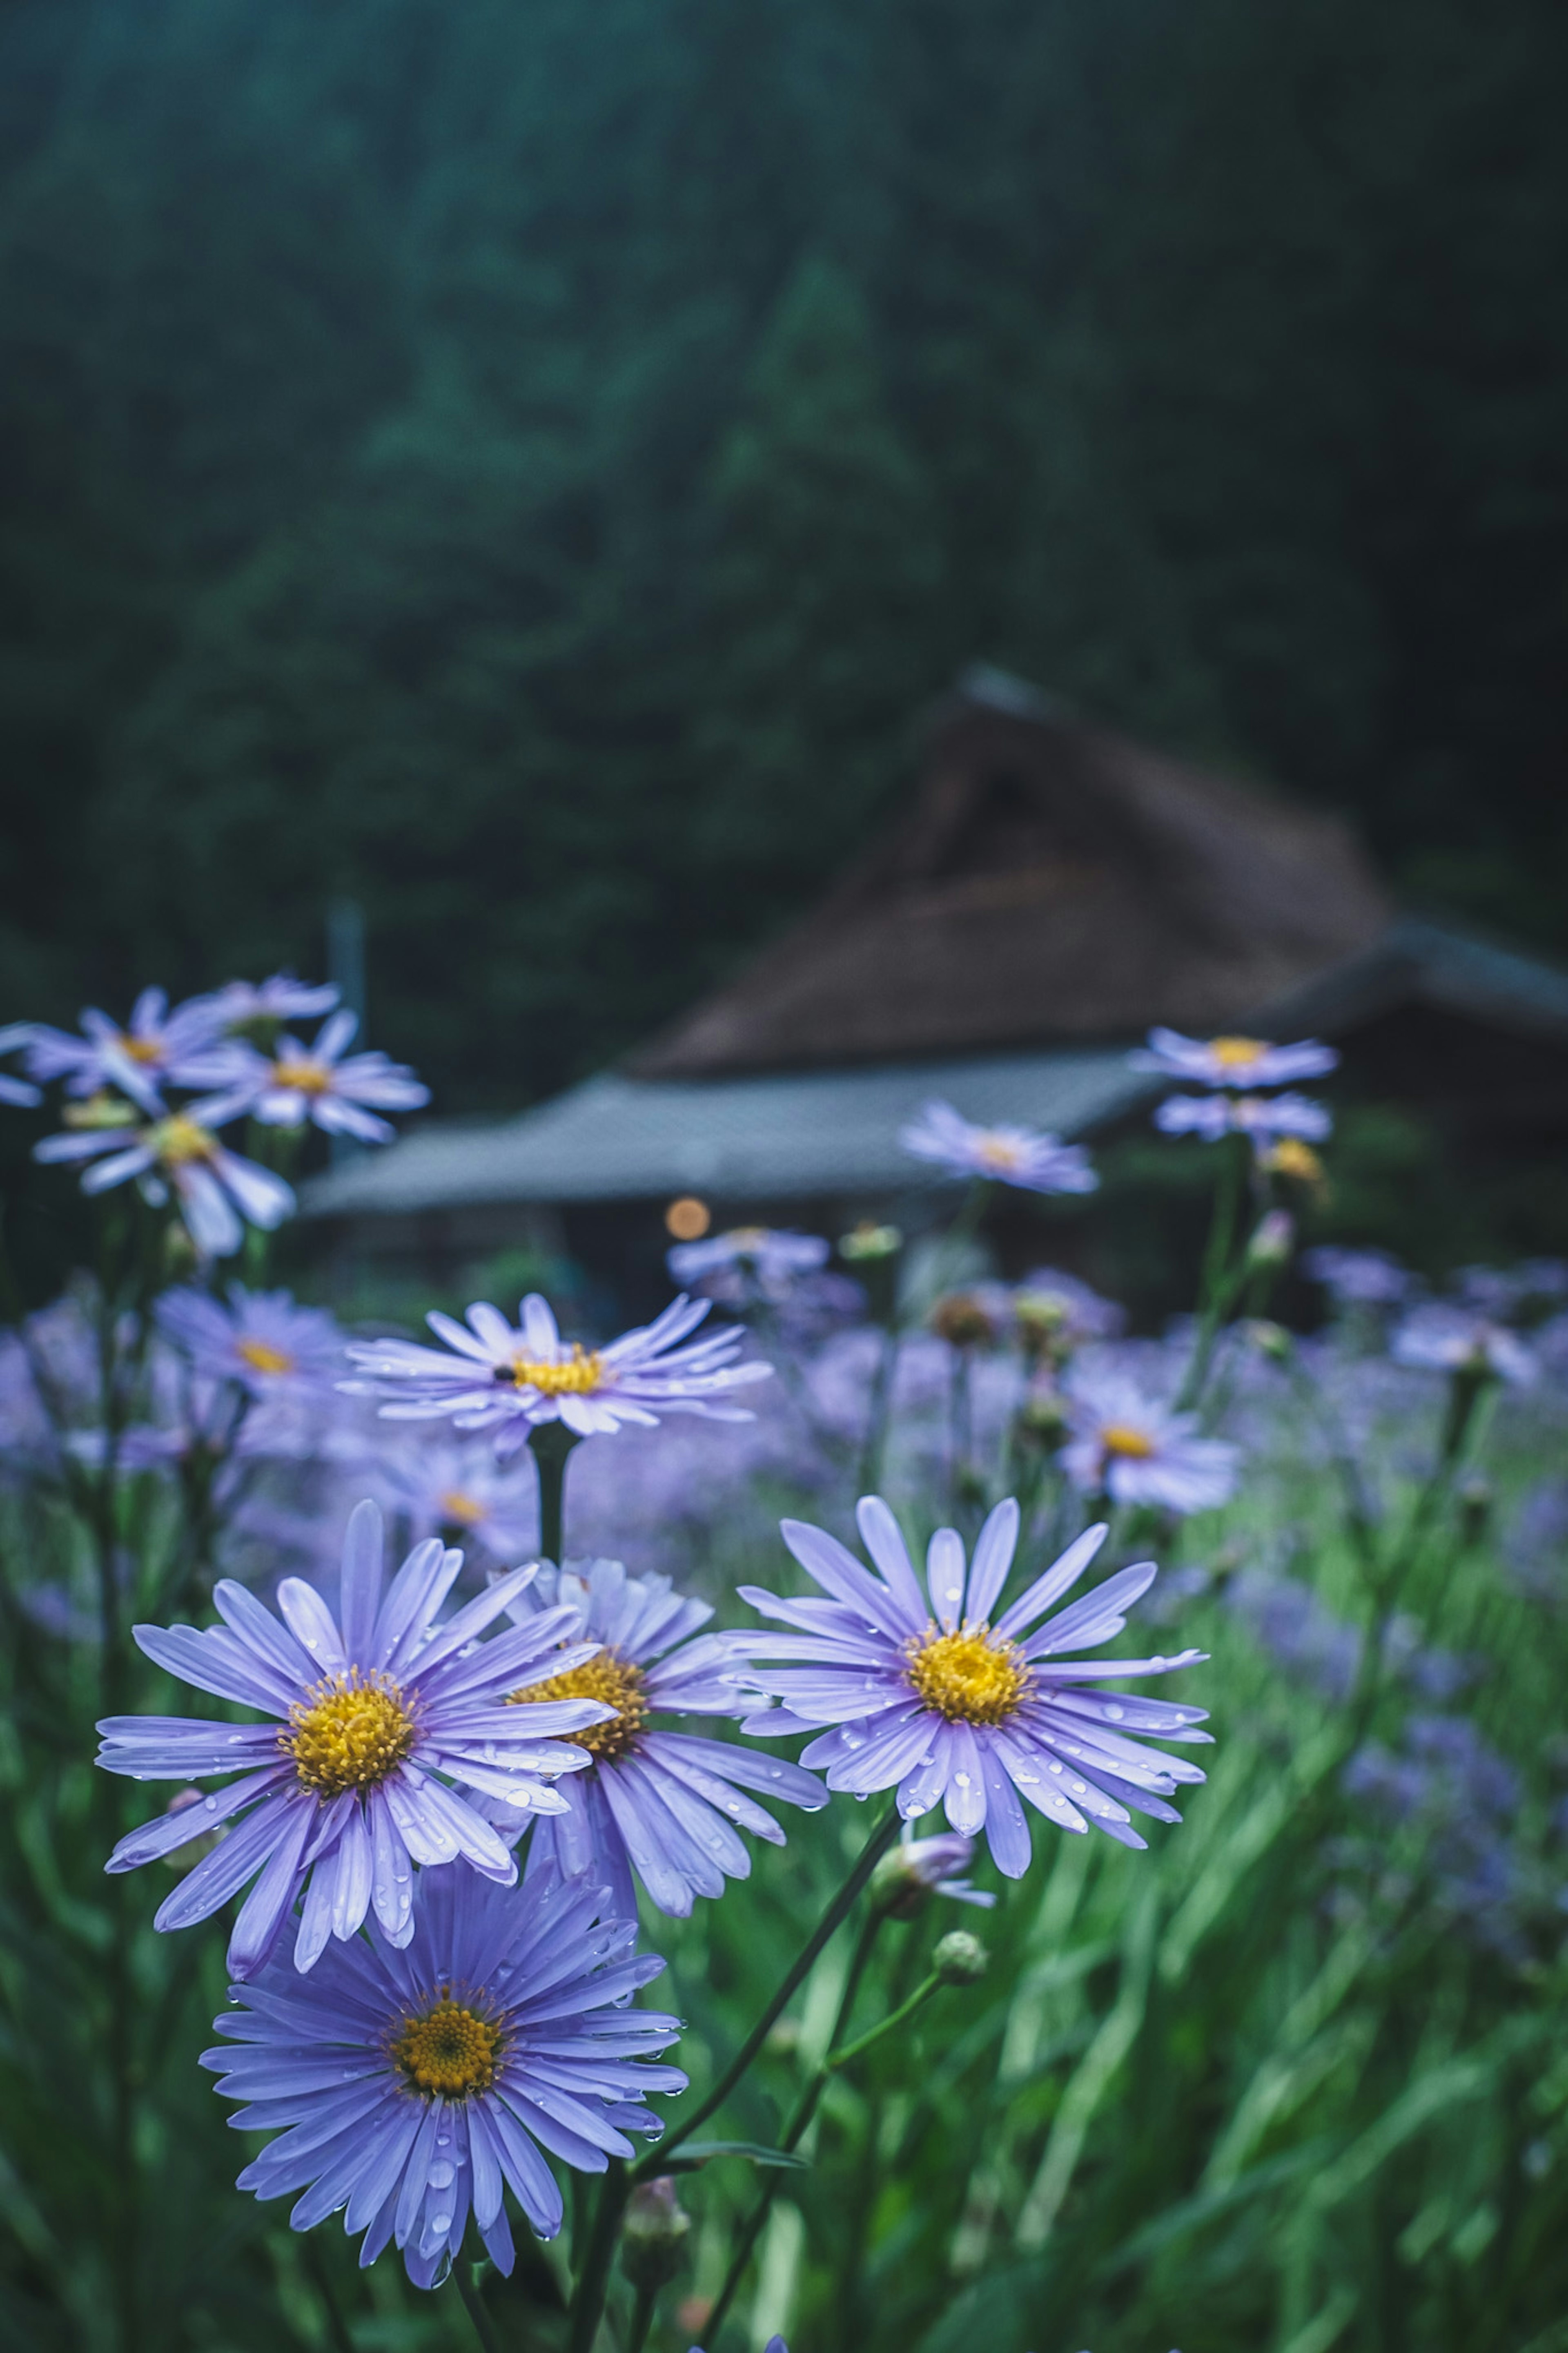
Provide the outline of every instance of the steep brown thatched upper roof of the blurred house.
{"type": "Polygon", "coordinates": [[[637,1078],[1208,1033],[1366,948],[1349,831],[997,671],[933,713],[914,805],[637,1078]]]}

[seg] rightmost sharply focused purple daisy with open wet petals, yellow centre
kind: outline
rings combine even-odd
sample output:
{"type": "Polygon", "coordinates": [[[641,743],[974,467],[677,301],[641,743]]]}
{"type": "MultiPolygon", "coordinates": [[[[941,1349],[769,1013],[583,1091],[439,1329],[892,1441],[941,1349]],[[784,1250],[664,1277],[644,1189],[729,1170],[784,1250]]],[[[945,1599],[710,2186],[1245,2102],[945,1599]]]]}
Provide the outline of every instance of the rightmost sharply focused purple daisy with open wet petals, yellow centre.
{"type": "Polygon", "coordinates": [[[903,1534],[882,1497],[856,1508],[860,1539],[882,1569],[872,1577],[820,1527],[783,1522],[783,1539],[830,1600],[780,1600],[757,1586],[743,1598],[799,1633],[769,1635],[752,1649],[799,1659],[799,1668],[759,1675],[757,1689],[783,1701],[773,1729],[837,1729],[802,1751],[804,1765],[827,1767],[827,1786],[858,1798],[898,1786],[905,1821],[945,1805],[966,1838],[985,1831],[997,1868],[1023,1878],[1030,1826],[1020,1798],[1058,1828],[1095,1821],[1124,1847],[1145,1840],[1131,1812],[1180,1821],[1166,1805],[1178,1781],[1204,1774],[1131,1739],[1154,1732],[1206,1741],[1204,1708],[1088,1692],[1124,1675],[1166,1675],[1204,1652],[1175,1659],[1065,1659],[1063,1652],[1121,1633],[1124,1609],[1154,1584],[1154,1562],[1119,1569],[1095,1593],[1039,1626],[1044,1612],[1077,1584],[1105,1541],[1086,1529],[1063,1558],[992,1626],[1018,1544],[1018,1504],[997,1504],[976,1541],[966,1574],[964,1541],[938,1527],[926,1553],[926,1593],[903,1534]],[[1131,1809],[1131,1812],[1128,1812],[1131,1809]]]}

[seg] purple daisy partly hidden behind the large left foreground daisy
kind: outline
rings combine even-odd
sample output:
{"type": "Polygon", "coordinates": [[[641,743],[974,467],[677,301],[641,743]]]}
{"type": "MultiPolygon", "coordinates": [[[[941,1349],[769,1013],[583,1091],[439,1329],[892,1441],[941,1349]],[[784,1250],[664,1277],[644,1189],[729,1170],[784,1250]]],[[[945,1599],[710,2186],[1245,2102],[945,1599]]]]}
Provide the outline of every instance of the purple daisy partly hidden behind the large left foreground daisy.
{"type": "Polygon", "coordinates": [[[581,1694],[614,1715],[574,1734],[590,1772],[571,1784],[569,1814],[534,1826],[527,1882],[543,1868],[585,1871],[609,1885],[616,1911],[635,1918],[635,1873],[658,1911],[684,1920],[696,1897],[719,1897],[726,1878],[750,1878],[736,1826],[773,1847],[785,1842],[773,1817],[743,1791],[757,1788],[809,1814],[827,1805],[827,1791],[816,1774],[755,1748],[649,1729],[649,1715],[755,1708],[736,1682],[750,1638],[689,1640],[712,1617],[708,1602],[672,1593],[668,1577],[628,1577],[618,1560],[583,1560],[564,1569],[545,1562],[508,1612],[527,1624],[531,1612],[559,1602],[571,1602],[574,1635],[602,1647],[517,1697],[581,1694]]]}

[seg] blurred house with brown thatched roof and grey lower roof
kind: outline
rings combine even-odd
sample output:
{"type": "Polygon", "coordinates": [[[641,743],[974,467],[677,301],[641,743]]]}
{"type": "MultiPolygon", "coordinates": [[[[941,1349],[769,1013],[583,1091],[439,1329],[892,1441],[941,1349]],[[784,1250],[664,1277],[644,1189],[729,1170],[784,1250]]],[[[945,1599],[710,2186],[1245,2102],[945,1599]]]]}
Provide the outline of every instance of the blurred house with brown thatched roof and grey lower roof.
{"type": "Polygon", "coordinates": [[[1154,1021],[1354,1033],[1378,1087],[1568,1134],[1568,976],[1399,920],[1338,819],[971,671],[910,807],[731,984],[618,1071],[512,1120],[435,1120],[308,1209],[425,1261],[562,1217],[578,1257],[623,1259],[632,1214],[654,1264],[686,1193],[919,1221],[936,1179],[898,1127],[926,1096],[1084,1136],[1147,1096],[1126,1047],[1154,1021]]]}

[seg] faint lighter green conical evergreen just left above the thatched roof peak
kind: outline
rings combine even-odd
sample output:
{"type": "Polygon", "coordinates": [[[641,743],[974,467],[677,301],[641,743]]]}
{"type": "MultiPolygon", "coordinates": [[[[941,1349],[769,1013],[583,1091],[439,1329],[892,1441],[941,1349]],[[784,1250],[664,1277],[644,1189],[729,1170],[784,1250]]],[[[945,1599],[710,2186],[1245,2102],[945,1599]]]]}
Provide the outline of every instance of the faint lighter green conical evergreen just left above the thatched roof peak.
{"type": "Polygon", "coordinates": [[[691,852],[766,922],[863,833],[943,675],[940,527],[851,278],[804,259],[717,454],[691,852]]]}

